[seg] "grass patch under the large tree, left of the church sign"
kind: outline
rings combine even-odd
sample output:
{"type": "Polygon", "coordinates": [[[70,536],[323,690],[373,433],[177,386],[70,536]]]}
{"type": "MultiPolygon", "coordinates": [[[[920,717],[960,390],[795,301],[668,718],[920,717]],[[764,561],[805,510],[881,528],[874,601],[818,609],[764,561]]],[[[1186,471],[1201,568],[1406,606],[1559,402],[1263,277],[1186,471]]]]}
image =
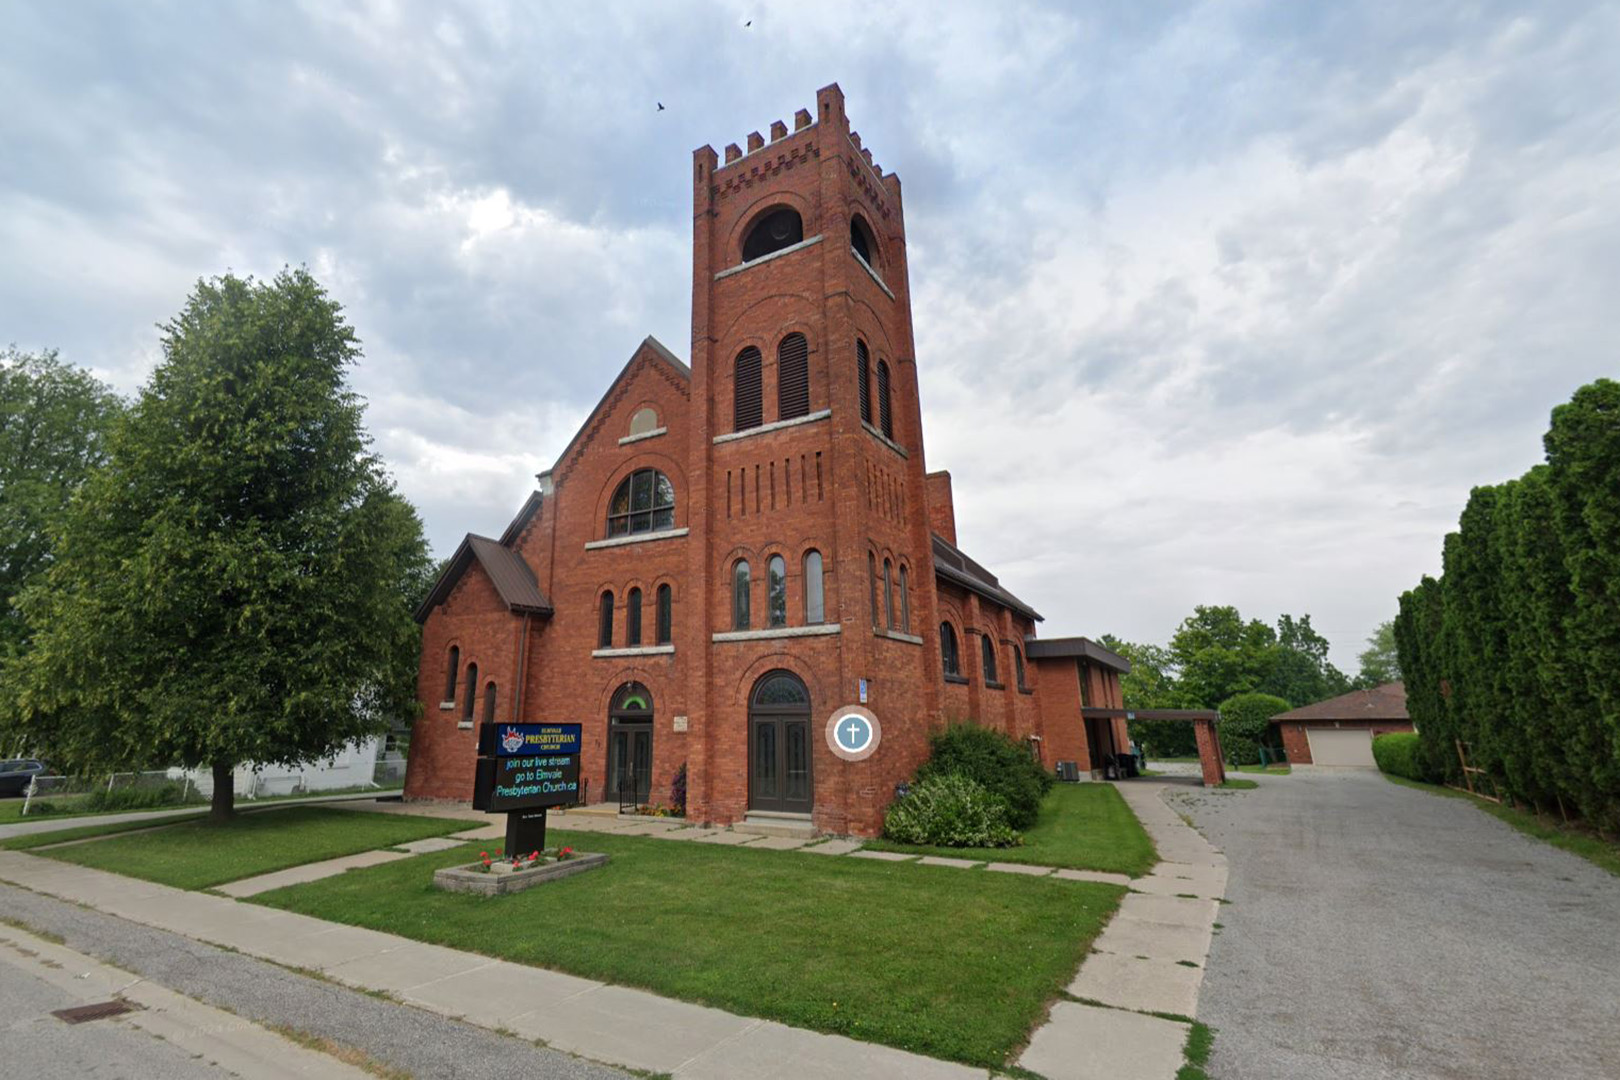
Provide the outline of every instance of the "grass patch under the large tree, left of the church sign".
{"type": "Polygon", "coordinates": [[[288,806],[237,814],[227,826],[191,819],[156,832],[73,847],[45,847],[37,853],[177,889],[207,889],[272,870],[471,827],[473,823],[449,818],[288,806]]]}

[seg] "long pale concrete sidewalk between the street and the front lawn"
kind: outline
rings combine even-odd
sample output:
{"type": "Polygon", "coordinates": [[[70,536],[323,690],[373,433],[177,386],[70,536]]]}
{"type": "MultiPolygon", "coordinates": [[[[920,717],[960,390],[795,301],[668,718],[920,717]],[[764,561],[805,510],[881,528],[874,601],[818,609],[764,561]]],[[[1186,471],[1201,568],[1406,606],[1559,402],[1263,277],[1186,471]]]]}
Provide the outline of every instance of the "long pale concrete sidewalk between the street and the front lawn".
{"type": "Polygon", "coordinates": [[[0,852],[0,879],[554,1049],[682,1080],[983,1080],[953,1062],[373,929],[0,852]]]}

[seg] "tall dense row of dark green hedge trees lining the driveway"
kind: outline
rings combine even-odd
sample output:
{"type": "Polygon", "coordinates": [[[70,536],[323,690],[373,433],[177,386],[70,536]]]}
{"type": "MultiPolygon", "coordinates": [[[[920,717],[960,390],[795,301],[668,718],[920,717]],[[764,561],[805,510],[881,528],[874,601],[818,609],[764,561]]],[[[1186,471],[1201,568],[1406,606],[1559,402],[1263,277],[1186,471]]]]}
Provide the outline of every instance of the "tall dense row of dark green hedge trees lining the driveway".
{"type": "Polygon", "coordinates": [[[1476,487],[1395,640],[1430,779],[1469,764],[1541,810],[1620,829],[1620,382],[1552,411],[1547,461],[1476,487]]]}

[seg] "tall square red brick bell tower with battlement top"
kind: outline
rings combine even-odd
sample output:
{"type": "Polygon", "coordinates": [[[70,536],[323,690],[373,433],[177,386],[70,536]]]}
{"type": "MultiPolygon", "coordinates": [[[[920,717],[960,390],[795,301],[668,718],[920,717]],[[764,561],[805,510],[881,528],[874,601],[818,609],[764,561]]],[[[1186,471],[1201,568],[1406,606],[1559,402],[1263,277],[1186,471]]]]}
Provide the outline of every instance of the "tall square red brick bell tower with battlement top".
{"type": "Polygon", "coordinates": [[[941,708],[901,181],[834,84],[792,131],[776,121],[724,160],[698,149],[692,212],[685,607],[708,649],[682,664],[701,729],[688,797],[718,821],[760,805],[750,693],[786,670],[810,696],[807,813],[823,831],[870,829],[941,708]],[[823,738],[855,704],[881,724],[881,763],[823,738]]]}

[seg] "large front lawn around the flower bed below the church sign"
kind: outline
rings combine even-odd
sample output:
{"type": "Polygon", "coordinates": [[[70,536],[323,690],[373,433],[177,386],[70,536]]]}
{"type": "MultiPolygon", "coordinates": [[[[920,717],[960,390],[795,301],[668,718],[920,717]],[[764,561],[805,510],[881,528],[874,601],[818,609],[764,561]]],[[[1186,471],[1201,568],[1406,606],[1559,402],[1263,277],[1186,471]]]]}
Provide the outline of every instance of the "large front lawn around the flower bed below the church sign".
{"type": "Polygon", "coordinates": [[[505,897],[433,887],[463,850],[253,897],[983,1067],[1022,1046],[1124,889],[557,831],[603,870],[505,897]]]}

